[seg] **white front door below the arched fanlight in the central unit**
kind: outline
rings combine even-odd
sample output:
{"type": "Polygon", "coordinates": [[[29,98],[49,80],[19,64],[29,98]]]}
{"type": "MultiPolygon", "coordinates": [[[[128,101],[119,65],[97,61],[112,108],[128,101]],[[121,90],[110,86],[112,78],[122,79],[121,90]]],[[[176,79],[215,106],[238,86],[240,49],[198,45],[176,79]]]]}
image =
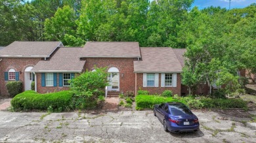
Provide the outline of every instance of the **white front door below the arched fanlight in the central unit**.
{"type": "Polygon", "coordinates": [[[119,72],[110,72],[108,81],[108,91],[119,91],[119,72]]]}

